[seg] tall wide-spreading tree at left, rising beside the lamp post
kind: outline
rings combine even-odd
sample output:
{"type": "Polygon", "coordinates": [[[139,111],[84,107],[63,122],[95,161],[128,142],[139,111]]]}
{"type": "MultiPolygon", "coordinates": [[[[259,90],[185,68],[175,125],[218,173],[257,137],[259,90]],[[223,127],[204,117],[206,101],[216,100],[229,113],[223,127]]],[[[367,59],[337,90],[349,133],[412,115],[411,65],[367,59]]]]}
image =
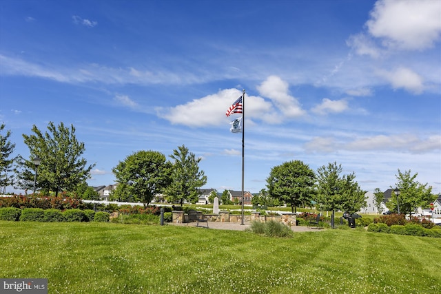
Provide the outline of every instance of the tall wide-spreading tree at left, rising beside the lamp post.
{"type": "Polygon", "coordinates": [[[34,134],[23,134],[24,142],[28,145],[30,159],[19,156],[17,162],[17,178],[19,187],[30,189],[34,183],[34,158],[39,157],[37,187],[45,192],[54,191],[58,196],[60,191],[75,191],[78,185],[90,178],[90,171],[95,166],[87,166],[87,160],[81,158],[85,151],[84,143],[76,139],[73,125],[65,127],[50,122],[48,131],[44,134],[32,127],[34,134]]]}

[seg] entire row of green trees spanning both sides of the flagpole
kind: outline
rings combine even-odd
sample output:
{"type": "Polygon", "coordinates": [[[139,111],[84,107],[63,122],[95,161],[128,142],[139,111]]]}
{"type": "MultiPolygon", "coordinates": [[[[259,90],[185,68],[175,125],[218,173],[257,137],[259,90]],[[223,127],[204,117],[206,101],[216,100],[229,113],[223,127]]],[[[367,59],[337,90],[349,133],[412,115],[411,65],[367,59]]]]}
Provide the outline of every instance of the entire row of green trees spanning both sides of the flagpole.
{"type": "MultiPolygon", "coordinates": [[[[93,189],[85,180],[90,178],[94,167],[88,165],[82,154],[84,143],[76,140],[73,125],[65,127],[50,122],[48,131],[41,132],[35,125],[32,134],[23,134],[24,142],[30,150],[30,158],[12,158],[15,145],[10,143],[10,131],[3,136],[5,125],[0,125],[0,187],[14,184],[21,189],[32,189],[34,185],[34,158],[41,158],[36,179],[37,188],[43,193],[53,191],[57,196],[61,191],[76,191],[81,196],[93,197],[93,189]],[[15,162],[15,165],[13,163],[15,162]],[[12,171],[15,177],[12,175],[12,171]]],[[[144,204],[152,201],[158,193],[165,195],[170,202],[184,200],[196,202],[198,188],[203,187],[207,177],[199,170],[201,158],[189,152],[187,147],[174,149],[167,160],[158,151],[137,151],[112,170],[119,182],[111,198],[137,200],[144,204]]],[[[403,213],[410,213],[415,207],[434,200],[431,187],[417,182],[417,174],[398,170],[396,188],[400,196],[392,195],[387,203],[389,209],[396,211],[398,205],[403,213]]],[[[314,205],[327,211],[349,211],[351,213],[366,206],[365,191],[356,182],[354,173],[342,174],[342,167],[336,162],[318,168],[316,172],[300,160],[285,162],[271,169],[267,178],[267,190],[263,190],[254,204],[291,204],[291,211],[297,207],[314,205]]],[[[4,189],[3,189],[4,191],[4,189]]],[[[380,189],[374,192],[377,205],[383,200],[380,189]]],[[[214,198],[214,194],[212,198],[214,198]]],[[[227,191],[221,197],[228,203],[227,191]]]]}

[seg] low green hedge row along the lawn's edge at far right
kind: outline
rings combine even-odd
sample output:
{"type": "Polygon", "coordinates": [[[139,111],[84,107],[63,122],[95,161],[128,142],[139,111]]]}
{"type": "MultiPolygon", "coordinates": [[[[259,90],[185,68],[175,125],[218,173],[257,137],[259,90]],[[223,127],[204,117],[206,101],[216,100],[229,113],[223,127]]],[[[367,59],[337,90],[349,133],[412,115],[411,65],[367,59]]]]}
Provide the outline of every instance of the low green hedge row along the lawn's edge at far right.
{"type": "Polygon", "coordinates": [[[368,232],[391,233],[397,235],[417,235],[423,237],[441,238],[441,229],[426,229],[420,224],[406,224],[404,226],[393,224],[389,227],[387,224],[369,224],[368,232]]]}

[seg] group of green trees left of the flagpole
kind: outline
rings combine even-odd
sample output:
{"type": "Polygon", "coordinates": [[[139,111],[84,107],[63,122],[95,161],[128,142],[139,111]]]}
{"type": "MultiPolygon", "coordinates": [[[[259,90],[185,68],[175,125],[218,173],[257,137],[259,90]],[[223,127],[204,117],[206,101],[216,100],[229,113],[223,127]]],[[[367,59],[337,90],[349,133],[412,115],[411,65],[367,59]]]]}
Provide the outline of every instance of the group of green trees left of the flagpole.
{"type": "MultiPolygon", "coordinates": [[[[0,125],[0,132],[4,127],[0,125]]],[[[95,165],[88,165],[82,157],[85,146],[76,139],[73,125],[66,127],[60,123],[57,126],[50,122],[44,133],[34,125],[32,134],[23,134],[30,151],[29,159],[20,155],[12,157],[15,145],[10,143],[10,134],[10,131],[5,136],[0,133],[0,187],[3,193],[9,185],[24,190],[35,185],[45,194],[54,192],[58,196],[62,191],[76,191],[81,196],[94,197],[93,189],[85,181],[95,165]],[[38,173],[34,158],[41,159],[38,173]]],[[[127,156],[113,169],[119,185],[112,197],[131,198],[146,205],[156,193],[165,193],[167,200],[172,202],[197,201],[198,188],[207,182],[198,167],[201,158],[196,158],[184,145],[175,149],[170,158],[171,161],[167,160],[158,151],[138,151],[127,156]]]]}

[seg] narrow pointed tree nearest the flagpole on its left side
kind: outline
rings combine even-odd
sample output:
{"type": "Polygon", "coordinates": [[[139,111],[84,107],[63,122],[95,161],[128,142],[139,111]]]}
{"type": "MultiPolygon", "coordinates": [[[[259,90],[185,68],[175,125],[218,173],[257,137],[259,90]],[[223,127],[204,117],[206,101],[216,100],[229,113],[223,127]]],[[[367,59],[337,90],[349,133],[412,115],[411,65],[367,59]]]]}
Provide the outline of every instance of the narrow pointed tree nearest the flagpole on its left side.
{"type": "Polygon", "coordinates": [[[184,145],[173,150],[172,158],[172,182],[167,187],[167,200],[170,202],[179,201],[181,207],[183,201],[192,203],[198,201],[198,188],[207,183],[207,176],[204,171],[199,171],[198,163],[201,158],[189,152],[184,145]]]}

